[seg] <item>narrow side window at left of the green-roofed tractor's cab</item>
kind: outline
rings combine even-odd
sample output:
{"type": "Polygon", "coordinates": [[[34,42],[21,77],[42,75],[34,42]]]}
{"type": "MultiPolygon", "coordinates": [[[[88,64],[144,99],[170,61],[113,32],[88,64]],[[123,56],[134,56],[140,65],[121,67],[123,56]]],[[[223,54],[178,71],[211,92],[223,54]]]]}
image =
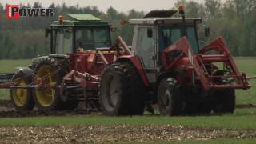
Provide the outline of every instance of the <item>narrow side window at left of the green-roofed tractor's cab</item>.
{"type": "Polygon", "coordinates": [[[55,38],[55,54],[70,54],[72,53],[72,43],[73,43],[73,35],[72,29],[57,29],[54,30],[54,38],[55,38]]]}

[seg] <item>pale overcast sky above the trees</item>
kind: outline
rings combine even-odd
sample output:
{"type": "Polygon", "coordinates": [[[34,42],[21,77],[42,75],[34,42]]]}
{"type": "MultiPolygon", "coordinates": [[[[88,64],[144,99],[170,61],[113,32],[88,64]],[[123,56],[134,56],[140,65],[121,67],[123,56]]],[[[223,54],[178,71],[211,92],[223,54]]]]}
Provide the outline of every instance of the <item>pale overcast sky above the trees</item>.
{"type": "MultiPolygon", "coordinates": [[[[110,7],[113,6],[114,9],[122,12],[127,12],[128,10],[143,10],[150,11],[154,9],[170,9],[174,6],[176,0],[1,0],[4,4],[19,4],[30,2],[41,2],[42,6],[49,6],[50,3],[62,4],[66,3],[68,6],[98,6],[98,8],[104,12],[110,7]]],[[[195,2],[203,2],[204,0],[194,0],[195,2]]]]}

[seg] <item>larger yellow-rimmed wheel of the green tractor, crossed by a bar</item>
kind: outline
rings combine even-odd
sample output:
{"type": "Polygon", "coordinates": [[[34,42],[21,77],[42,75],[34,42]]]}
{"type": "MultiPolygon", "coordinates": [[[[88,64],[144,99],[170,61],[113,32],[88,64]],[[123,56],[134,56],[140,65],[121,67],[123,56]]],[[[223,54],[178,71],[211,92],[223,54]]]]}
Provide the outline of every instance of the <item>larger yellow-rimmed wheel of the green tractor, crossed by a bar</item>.
{"type": "MultiPolygon", "coordinates": [[[[43,58],[35,67],[34,75],[43,78],[47,85],[58,86],[66,74],[61,62],[54,58],[43,58]]],[[[57,88],[34,90],[34,100],[39,110],[59,110],[62,106],[60,90],[57,88]]]]}

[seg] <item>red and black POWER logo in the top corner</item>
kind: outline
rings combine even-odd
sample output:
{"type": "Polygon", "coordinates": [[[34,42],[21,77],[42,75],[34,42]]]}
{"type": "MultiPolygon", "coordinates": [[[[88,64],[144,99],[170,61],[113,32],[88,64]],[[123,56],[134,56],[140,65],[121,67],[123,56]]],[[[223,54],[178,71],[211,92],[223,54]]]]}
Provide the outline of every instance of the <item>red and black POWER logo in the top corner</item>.
{"type": "Polygon", "coordinates": [[[20,17],[53,17],[53,9],[20,8],[19,5],[6,5],[6,18],[17,20],[20,17]]]}

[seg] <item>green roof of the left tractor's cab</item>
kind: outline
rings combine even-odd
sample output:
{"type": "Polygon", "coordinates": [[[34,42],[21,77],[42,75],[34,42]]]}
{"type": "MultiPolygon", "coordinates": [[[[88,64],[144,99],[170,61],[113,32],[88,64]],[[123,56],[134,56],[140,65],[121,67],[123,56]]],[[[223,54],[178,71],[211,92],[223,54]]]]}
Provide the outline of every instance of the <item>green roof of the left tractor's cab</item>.
{"type": "Polygon", "coordinates": [[[108,22],[91,14],[69,14],[70,20],[54,21],[50,26],[110,26],[108,22]]]}

